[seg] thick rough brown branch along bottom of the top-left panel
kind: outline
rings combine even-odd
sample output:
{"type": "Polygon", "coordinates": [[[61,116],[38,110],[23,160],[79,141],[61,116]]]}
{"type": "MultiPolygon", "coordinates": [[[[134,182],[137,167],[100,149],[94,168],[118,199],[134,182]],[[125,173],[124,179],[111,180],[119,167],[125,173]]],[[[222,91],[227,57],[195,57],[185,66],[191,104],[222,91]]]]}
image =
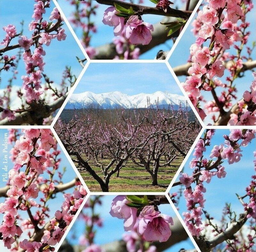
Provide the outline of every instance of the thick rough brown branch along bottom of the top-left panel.
{"type": "Polygon", "coordinates": [[[44,118],[47,118],[51,115],[52,112],[56,111],[61,107],[65,99],[67,98],[68,93],[66,95],[58,98],[53,103],[46,105],[43,101],[41,103],[36,103],[36,106],[31,111],[26,111],[22,113],[15,113],[14,120],[8,120],[5,118],[0,121],[0,125],[22,125],[22,124],[30,124],[30,125],[40,125],[44,118]]]}

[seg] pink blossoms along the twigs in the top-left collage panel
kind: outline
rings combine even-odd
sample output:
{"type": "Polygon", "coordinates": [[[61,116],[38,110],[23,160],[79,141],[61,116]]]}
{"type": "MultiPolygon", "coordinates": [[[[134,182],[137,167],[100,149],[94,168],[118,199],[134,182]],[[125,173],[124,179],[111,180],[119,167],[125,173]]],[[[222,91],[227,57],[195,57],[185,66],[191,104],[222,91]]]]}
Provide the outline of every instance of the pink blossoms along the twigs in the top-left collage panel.
{"type": "MultiPolygon", "coordinates": [[[[51,12],[51,16],[49,18],[50,21],[57,20],[56,24],[52,22],[48,22],[43,19],[43,14],[46,12],[45,9],[50,7],[50,0],[42,0],[35,1],[34,4],[34,12],[32,15],[33,20],[30,22],[28,26],[28,30],[32,31],[33,34],[30,38],[25,35],[17,34],[16,27],[12,24],[9,24],[6,27],[3,27],[6,32],[4,42],[0,45],[4,45],[6,48],[9,46],[11,40],[14,37],[19,37],[17,46],[23,48],[25,51],[22,55],[23,61],[25,63],[26,75],[23,75],[21,79],[23,80],[21,91],[18,92],[18,96],[20,97],[22,103],[23,92],[25,91],[24,97],[26,98],[26,103],[23,104],[22,107],[28,107],[29,104],[33,102],[38,102],[41,98],[41,95],[44,93],[42,89],[41,82],[43,78],[44,71],[44,59],[45,50],[43,49],[43,45],[49,46],[52,39],[57,39],[58,41],[62,41],[66,39],[65,30],[61,28],[61,20],[60,13],[58,9],[55,7],[51,12]],[[35,46],[35,50],[31,50],[31,46],[35,46]]],[[[5,50],[5,48],[3,49],[5,50]]],[[[4,56],[4,67],[5,71],[8,71],[10,67],[15,67],[16,64],[13,63],[13,60],[16,56],[8,57],[4,56]]],[[[11,86],[10,90],[11,91],[11,86]]],[[[6,97],[4,97],[6,98],[6,97]]],[[[1,106],[4,105],[2,99],[0,99],[1,106]]],[[[6,107],[8,106],[8,101],[6,102],[6,107]]],[[[0,118],[8,118],[8,120],[15,119],[15,112],[22,112],[23,109],[18,110],[10,110],[10,108],[2,109],[0,118]]]]}

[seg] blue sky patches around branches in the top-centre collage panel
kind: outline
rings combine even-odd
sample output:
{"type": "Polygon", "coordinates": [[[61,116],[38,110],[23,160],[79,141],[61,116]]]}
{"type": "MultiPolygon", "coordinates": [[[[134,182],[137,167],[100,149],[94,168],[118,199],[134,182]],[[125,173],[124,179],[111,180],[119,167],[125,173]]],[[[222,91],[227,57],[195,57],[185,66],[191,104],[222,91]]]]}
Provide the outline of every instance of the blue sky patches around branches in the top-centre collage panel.
{"type": "MultiPolygon", "coordinates": [[[[63,10],[65,16],[67,18],[69,18],[71,16],[72,11],[74,10],[74,7],[70,7],[71,5],[69,4],[70,1],[64,1],[64,0],[60,0],[58,1],[58,3],[60,4],[61,9],[63,10]]],[[[92,1],[94,2],[94,4],[96,3],[96,1],[92,1]]],[[[138,1],[134,1],[135,3],[137,3],[138,1]]],[[[175,2],[175,5],[173,8],[175,8],[175,6],[177,6],[177,4],[180,6],[182,6],[181,1],[180,0],[176,0],[173,1],[175,2]]],[[[155,6],[155,4],[153,4],[152,2],[145,0],[144,1],[144,5],[147,6],[155,6]]],[[[100,45],[103,45],[105,43],[109,43],[112,42],[113,38],[114,38],[114,34],[113,34],[113,27],[104,25],[102,23],[102,18],[103,18],[103,13],[104,11],[108,8],[109,6],[107,5],[103,5],[103,4],[99,4],[99,8],[97,8],[97,15],[96,16],[92,16],[92,21],[95,22],[95,25],[97,26],[97,30],[98,32],[95,34],[92,34],[92,39],[91,39],[91,46],[92,47],[97,47],[100,45]]],[[[155,24],[155,23],[159,23],[162,20],[162,16],[157,16],[157,15],[144,15],[143,16],[143,20],[145,22],[149,22],[151,24],[155,24]]],[[[72,24],[71,24],[72,25],[72,24]]],[[[81,37],[81,30],[80,29],[75,29],[75,32],[78,36],[78,38],[81,37]]],[[[156,54],[159,50],[170,50],[172,48],[173,42],[171,40],[168,40],[165,42],[165,44],[161,44],[159,46],[156,46],[155,48],[149,50],[148,52],[142,54],[140,56],[140,59],[154,59],[156,57],[156,54]]]]}

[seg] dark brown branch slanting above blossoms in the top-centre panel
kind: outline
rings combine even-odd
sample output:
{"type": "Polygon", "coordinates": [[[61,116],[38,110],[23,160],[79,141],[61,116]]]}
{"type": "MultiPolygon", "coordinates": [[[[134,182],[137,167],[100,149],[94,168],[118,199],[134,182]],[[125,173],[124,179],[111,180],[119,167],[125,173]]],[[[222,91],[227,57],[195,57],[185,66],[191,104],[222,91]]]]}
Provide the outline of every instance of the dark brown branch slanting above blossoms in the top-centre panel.
{"type": "Polygon", "coordinates": [[[124,7],[125,9],[130,9],[130,7],[132,7],[133,11],[139,11],[141,15],[153,14],[153,15],[188,19],[192,13],[192,11],[181,11],[181,10],[172,9],[170,7],[167,8],[167,11],[165,12],[162,8],[126,3],[126,2],[123,2],[120,0],[96,0],[96,1],[99,4],[106,4],[106,5],[112,5],[112,6],[115,6],[115,4],[118,4],[122,7],[124,7]]]}

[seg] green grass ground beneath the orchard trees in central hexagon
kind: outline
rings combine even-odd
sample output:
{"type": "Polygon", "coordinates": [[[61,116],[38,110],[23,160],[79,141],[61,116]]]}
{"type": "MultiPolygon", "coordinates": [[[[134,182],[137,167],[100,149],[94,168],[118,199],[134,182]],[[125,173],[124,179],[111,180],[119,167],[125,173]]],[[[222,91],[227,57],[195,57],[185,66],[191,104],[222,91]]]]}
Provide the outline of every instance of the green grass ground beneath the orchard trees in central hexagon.
{"type": "MultiPolygon", "coordinates": [[[[158,171],[158,186],[152,186],[152,180],[150,174],[134,164],[131,160],[128,160],[126,165],[121,168],[119,177],[116,177],[116,173],[113,174],[109,182],[110,192],[164,192],[169,186],[172,178],[177,172],[183,157],[177,157],[170,166],[160,167],[158,171]]],[[[104,164],[108,164],[109,160],[102,160],[104,164]]],[[[89,164],[94,171],[101,177],[102,173],[99,167],[95,166],[93,162],[89,161],[89,164]]],[[[76,164],[76,167],[81,167],[76,164]]],[[[101,192],[98,182],[86,171],[80,171],[86,185],[92,192],[101,192]]]]}

